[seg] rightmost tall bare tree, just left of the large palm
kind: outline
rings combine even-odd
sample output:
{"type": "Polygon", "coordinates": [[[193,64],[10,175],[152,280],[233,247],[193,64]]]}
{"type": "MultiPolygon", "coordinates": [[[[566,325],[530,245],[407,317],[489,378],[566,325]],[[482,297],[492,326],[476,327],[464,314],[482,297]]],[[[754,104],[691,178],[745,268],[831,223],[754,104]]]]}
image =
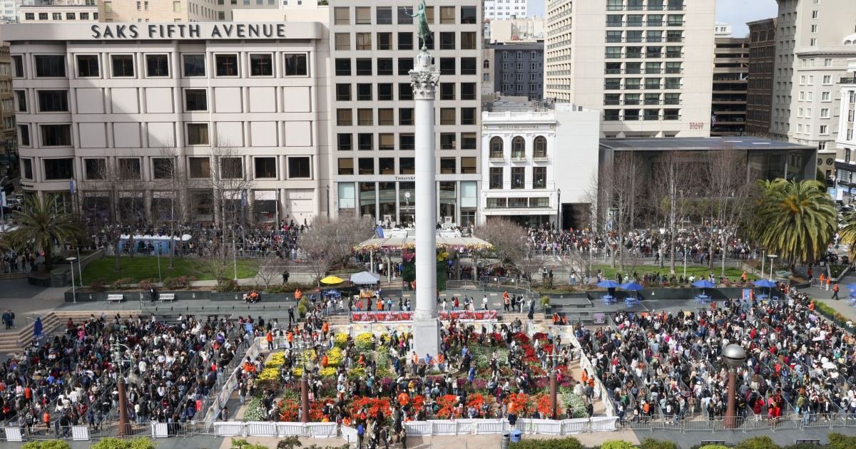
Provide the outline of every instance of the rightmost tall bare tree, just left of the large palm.
{"type": "Polygon", "coordinates": [[[746,151],[731,146],[709,151],[704,160],[704,182],[708,192],[704,204],[710,219],[709,268],[713,269],[713,251],[719,245],[722,251],[720,275],[725,276],[728,243],[738,234],[740,222],[750,209],[753,183],[746,151]]]}

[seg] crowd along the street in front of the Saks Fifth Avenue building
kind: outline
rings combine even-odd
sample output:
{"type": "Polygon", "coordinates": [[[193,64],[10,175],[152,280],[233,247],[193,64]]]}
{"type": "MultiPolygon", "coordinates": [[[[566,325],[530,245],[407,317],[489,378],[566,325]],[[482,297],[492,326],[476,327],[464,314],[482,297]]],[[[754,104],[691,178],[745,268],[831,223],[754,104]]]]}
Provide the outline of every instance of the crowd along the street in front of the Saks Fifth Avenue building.
{"type": "MultiPolygon", "coordinates": [[[[277,230],[274,227],[263,227],[253,225],[240,225],[235,228],[234,243],[233,231],[217,224],[199,225],[199,223],[153,224],[146,220],[140,220],[134,225],[128,223],[97,222],[92,219],[86,220],[85,228],[88,234],[87,245],[90,249],[104,248],[112,253],[115,251],[115,239],[117,235],[152,235],[156,237],[167,237],[170,234],[175,238],[189,235],[189,239],[175,241],[175,256],[199,256],[211,257],[221,254],[222,251],[232,251],[235,248],[238,257],[265,257],[276,255],[283,259],[296,260],[300,257],[297,248],[297,239],[300,233],[306,230],[308,225],[298,224],[291,221],[283,221],[277,230]]],[[[138,241],[134,247],[123,242],[122,251],[151,255],[155,251],[155,245],[151,242],[138,241]]],[[[169,250],[162,250],[169,251],[169,250]]],[[[161,254],[164,255],[163,252],[161,254]]]]}

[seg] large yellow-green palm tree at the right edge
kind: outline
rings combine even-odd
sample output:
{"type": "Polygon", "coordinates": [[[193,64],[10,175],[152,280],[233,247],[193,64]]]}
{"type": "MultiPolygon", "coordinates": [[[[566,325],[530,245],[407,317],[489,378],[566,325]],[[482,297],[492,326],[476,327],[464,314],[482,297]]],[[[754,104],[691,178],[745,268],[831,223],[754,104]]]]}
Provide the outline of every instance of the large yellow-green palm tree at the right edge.
{"type": "Polygon", "coordinates": [[[795,263],[817,260],[835,235],[835,206],[817,180],[762,180],[754,233],[761,246],[795,263]]]}

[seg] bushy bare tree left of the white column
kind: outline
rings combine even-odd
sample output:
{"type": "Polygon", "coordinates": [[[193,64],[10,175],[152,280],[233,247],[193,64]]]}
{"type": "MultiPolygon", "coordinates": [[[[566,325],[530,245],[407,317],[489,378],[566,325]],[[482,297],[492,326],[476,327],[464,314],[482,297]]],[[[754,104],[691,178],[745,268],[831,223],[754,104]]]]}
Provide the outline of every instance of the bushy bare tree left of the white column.
{"type": "Polygon", "coordinates": [[[335,218],[319,216],[297,242],[306,260],[312,264],[312,274],[321,279],[337,263],[347,263],[354,247],[372,237],[371,218],[340,213],[335,218]]]}

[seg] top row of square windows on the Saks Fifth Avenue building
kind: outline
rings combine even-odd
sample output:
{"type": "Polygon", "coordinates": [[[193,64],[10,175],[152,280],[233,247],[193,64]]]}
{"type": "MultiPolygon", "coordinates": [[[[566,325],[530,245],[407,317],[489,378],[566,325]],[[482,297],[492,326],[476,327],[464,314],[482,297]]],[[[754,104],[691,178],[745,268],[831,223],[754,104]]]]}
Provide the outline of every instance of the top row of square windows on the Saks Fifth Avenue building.
{"type": "MultiPolygon", "coordinates": [[[[241,63],[239,54],[237,53],[217,53],[214,58],[214,75],[217,77],[237,77],[241,76],[241,63]]],[[[205,54],[182,54],[181,67],[182,76],[185,78],[205,77],[206,70],[205,54]]],[[[247,68],[244,76],[251,77],[272,77],[274,76],[274,55],[273,53],[249,53],[247,59],[247,68]],[[246,71],[248,70],[248,74],[246,71]]],[[[24,56],[13,55],[12,62],[15,70],[15,77],[23,78],[24,73],[24,56]]],[[[33,67],[35,68],[36,78],[66,78],[64,55],[34,55],[33,67]]],[[[100,78],[102,77],[100,57],[98,55],[75,55],[77,65],[78,78],[100,78]]],[[[138,58],[134,54],[110,55],[110,74],[111,78],[134,78],[138,77],[138,68],[136,64],[138,58]]],[[[169,55],[165,54],[146,54],[142,62],[147,78],[168,78],[169,77],[169,55]]],[[[280,76],[308,76],[308,55],[306,53],[284,53],[282,55],[282,71],[278,72],[280,76]]]]}

